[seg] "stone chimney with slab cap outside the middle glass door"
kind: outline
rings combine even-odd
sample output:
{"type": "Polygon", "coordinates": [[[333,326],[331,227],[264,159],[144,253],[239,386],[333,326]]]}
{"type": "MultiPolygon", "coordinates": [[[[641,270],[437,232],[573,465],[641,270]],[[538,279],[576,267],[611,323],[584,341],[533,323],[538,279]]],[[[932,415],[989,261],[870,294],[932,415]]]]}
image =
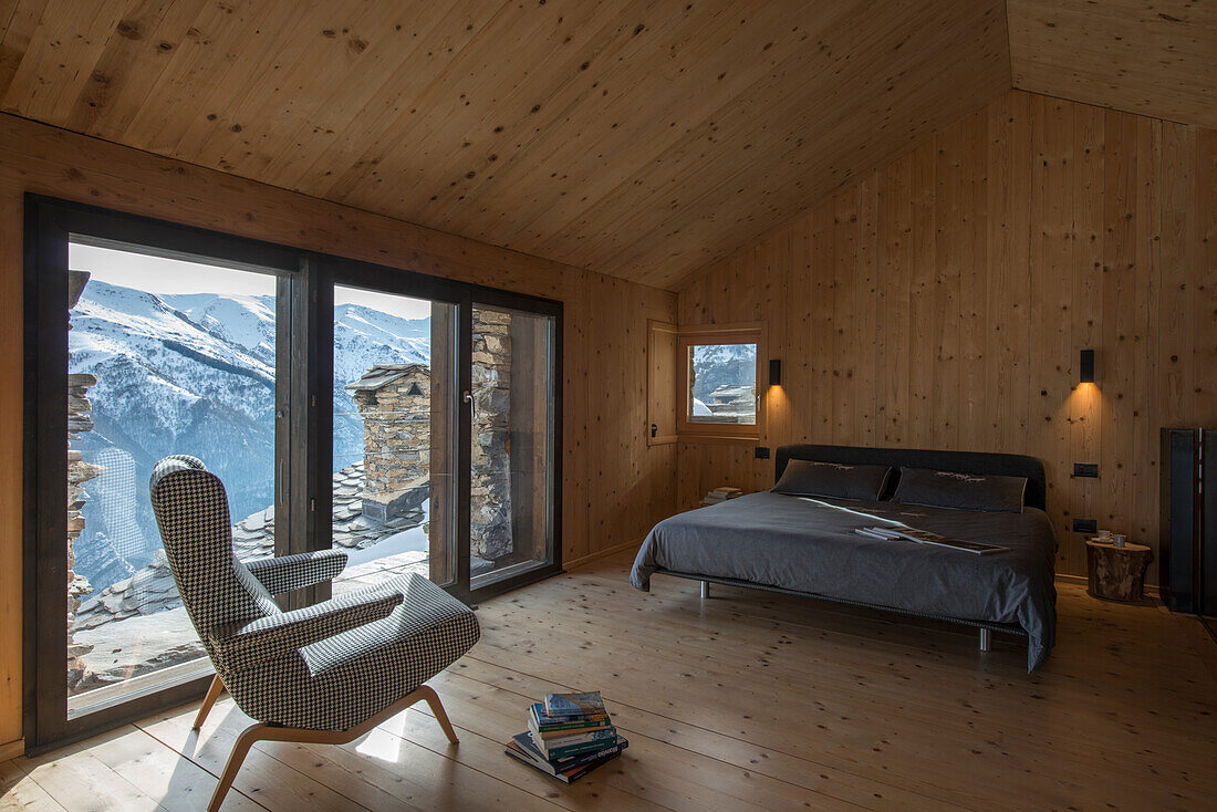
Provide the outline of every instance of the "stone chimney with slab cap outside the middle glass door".
{"type": "Polygon", "coordinates": [[[431,369],[376,364],[346,388],[364,419],[364,516],[417,510],[431,480],[431,369]]]}

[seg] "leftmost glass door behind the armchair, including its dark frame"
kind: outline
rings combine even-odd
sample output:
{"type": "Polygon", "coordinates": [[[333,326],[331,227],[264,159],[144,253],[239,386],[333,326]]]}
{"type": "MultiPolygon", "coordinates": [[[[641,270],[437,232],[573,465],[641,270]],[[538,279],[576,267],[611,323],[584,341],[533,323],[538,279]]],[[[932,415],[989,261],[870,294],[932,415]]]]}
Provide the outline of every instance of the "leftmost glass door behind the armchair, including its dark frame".
{"type": "Polygon", "coordinates": [[[301,258],[37,196],[24,248],[23,730],[37,749],[211,679],[152,514],[159,459],[194,455],[219,476],[237,556],[290,551],[301,258]]]}

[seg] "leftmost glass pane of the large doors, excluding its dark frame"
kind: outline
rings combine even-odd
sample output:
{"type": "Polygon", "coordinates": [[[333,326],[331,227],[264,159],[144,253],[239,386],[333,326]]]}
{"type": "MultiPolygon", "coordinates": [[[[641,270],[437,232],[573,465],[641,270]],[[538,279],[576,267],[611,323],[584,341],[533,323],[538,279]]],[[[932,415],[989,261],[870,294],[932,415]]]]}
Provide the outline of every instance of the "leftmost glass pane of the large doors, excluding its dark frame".
{"type": "Polygon", "coordinates": [[[236,554],[275,554],[279,279],[68,243],[68,718],[211,671],[148,500],[168,454],[224,482],[236,554]]]}

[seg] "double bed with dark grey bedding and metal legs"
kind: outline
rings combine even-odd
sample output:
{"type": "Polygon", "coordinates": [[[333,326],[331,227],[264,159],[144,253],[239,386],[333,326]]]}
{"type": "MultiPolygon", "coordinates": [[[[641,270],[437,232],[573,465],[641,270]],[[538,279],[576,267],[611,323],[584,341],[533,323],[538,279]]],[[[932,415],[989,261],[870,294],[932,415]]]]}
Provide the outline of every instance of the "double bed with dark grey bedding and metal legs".
{"type": "MultiPolygon", "coordinates": [[[[1027,638],[1027,670],[1051,653],[1056,625],[1056,539],[1044,513],[1043,465],[1030,457],[793,444],[778,448],[775,480],[792,460],[818,467],[890,466],[877,498],[765,491],[679,514],[656,525],[630,582],[649,592],[655,575],[790,593],[965,623],[1027,638]],[[970,510],[908,504],[893,497],[915,471],[1025,480],[1021,509],[970,510]],[[976,555],[869,538],[867,526],[931,531],[1005,549],[976,555]]],[[[905,492],[907,493],[907,492],[905,492]]],[[[905,497],[907,498],[907,497],[905,497]]]]}

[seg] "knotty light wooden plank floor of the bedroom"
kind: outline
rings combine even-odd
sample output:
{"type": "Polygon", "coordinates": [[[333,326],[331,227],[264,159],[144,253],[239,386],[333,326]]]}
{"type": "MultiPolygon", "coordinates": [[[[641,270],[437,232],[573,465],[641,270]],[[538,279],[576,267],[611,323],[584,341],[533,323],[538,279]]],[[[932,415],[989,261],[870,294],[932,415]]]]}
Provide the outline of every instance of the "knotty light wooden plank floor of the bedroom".
{"type": "MultiPolygon", "coordinates": [[[[1215,808],[1215,644],[1160,605],[1061,586],[1056,650],[656,577],[628,555],[484,603],[425,707],[346,746],[262,744],[225,810],[1215,808]],[[529,702],[602,689],[630,746],[563,786],[503,754],[529,702]]],[[[221,699],[0,765],[0,807],[202,810],[248,724],[221,699]]]]}

